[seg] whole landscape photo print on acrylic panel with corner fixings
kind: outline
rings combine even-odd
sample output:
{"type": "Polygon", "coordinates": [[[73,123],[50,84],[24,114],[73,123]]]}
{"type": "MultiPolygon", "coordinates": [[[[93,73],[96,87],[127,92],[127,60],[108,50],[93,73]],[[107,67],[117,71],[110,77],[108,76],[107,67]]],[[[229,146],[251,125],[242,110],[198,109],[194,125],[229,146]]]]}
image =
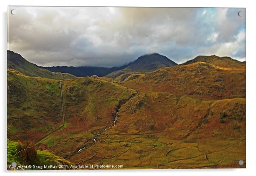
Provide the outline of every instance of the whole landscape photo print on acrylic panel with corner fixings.
{"type": "Polygon", "coordinates": [[[7,170],[245,168],[245,8],[7,14],[7,170]]]}

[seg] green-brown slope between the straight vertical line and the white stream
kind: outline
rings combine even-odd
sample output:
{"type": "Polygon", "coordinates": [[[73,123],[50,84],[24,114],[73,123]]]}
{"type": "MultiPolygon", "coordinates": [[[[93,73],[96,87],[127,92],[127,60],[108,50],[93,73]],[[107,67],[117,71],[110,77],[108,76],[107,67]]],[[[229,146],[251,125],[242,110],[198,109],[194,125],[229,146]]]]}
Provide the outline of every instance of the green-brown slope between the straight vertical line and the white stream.
{"type": "Polygon", "coordinates": [[[68,157],[94,137],[113,126],[118,107],[130,99],[135,90],[97,78],[84,77],[63,82],[67,126],[40,141],[43,148],[68,157]]]}

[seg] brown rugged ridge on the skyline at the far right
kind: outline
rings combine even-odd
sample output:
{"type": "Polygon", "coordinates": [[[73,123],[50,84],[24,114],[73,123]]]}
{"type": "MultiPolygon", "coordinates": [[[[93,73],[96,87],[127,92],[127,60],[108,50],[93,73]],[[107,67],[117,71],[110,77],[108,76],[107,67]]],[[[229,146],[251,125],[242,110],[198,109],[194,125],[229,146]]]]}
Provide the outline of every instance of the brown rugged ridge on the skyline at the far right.
{"type": "Polygon", "coordinates": [[[196,62],[205,62],[205,63],[213,64],[215,66],[227,67],[227,68],[245,67],[245,62],[240,62],[240,61],[234,60],[230,57],[219,57],[216,55],[211,55],[211,56],[199,55],[196,58],[194,58],[192,60],[188,60],[187,62],[182,63],[180,65],[188,65],[188,64],[196,63],[196,62]]]}

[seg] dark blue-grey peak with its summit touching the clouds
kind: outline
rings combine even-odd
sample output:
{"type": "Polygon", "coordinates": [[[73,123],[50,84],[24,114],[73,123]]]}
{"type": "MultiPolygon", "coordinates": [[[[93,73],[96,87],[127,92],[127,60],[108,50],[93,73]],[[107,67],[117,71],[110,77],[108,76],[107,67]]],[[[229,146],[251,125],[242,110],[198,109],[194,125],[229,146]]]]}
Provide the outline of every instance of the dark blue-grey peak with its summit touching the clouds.
{"type": "Polygon", "coordinates": [[[156,69],[160,69],[168,66],[176,66],[178,65],[174,61],[170,60],[164,55],[160,55],[158,53],[142,55],[134,62],[128,64],[125,69],[114,71],[111,74],[108,74],[107,77],[118,77],[121,74],[128,72],[150,72],[156,69]]]}

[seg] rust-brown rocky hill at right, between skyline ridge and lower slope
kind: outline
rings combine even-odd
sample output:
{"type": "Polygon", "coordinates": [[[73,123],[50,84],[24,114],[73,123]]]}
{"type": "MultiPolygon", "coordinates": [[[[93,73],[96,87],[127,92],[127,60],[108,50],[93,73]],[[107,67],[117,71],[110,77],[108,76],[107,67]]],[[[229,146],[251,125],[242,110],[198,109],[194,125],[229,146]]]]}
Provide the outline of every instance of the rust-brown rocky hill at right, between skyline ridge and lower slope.
{"type": "Polygon", "coordinates": [[[245,98],[245,69],[221,69],[197,62],[162,68],[120,84],[138,91],[168,92],[202,99],[245,98]]]}

